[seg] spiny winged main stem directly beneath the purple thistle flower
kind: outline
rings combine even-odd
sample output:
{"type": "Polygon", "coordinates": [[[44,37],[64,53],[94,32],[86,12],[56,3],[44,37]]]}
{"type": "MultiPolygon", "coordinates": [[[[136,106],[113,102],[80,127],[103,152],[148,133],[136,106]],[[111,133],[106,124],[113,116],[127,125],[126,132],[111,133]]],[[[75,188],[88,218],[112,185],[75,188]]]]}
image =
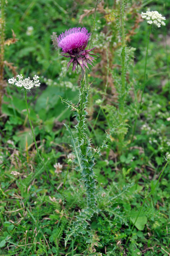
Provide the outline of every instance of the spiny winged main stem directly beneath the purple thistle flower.
{"type": "Polygon", "coordinates": [[[90,144],[90,139],[87,136],[86,130],[86,105],[88,101],[89,86],[85,83],[85,71],[82,69],[82,81],[80,88],[80,105],[77,112],[77,133],[78,133],[78,147],[81,160],[81,179],[85,185],[87,195],[87,207],[95,207],[95,179],[94,179],[94,156],[93,149],[90,144]]]}

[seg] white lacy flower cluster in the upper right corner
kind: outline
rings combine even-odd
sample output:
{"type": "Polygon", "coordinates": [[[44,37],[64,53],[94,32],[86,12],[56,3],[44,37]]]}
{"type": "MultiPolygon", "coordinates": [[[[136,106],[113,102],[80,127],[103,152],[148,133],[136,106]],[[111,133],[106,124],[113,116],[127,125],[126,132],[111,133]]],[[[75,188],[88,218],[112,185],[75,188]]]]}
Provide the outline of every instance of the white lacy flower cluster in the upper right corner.
{"type": "Polygon", "coordinates": [[[147,23],[149,24],[155,24],[158,28],[160,28],[161,25],[165,26],[165,20],[166,18],[162,16],[162,14],[160,14],[157,11],[147,11],[147,12],[142,12],[142,19],[147,20],[147,23]]]}

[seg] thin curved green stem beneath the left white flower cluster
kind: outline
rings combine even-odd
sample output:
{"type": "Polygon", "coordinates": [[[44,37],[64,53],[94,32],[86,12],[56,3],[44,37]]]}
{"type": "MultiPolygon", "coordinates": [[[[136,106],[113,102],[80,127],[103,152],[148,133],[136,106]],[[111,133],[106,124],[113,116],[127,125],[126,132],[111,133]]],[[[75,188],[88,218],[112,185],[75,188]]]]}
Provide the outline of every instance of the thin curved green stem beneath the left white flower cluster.
{"type": "MultiPolygon", "coordinates": [[[[36,138],[35,138],[35,135],[34,135],[34,131],[33,131],[33,127],[32,127],[32,123],[31,123],[30,115],[29,115],[29,110],[28,110],[27,91],[26,91],[26,90],[25,90],[25,104],[26,104],[26,108],[27,108],[28,120],[29,120],[29,124],[30,124],[31,131],[32,131],[32,136],[33,136],[33,138],[34,138],[34,143],[35,143],[35,146],[36,146],[36,152],[37,152],[38,157],[39,157],[39,159],[41,160],[41,162],[42,162],[42,164],[43,164],[43,166],[44,166],[45,172],[46,172],[46,174],[47,174],[47,178],[48,178],[48,180],[49,180],[51,186],[53,186],[53,188],[54,188],[57,192],[59,192],[58,189],[55,188],[55,186],[51,183],[48,170],[47,170],[47,168],[46,168],[46,166],[45,166],[45,164],[44,164],[44,161],[43,161],[42,157],[40,156],[40,153],[39,153],[39,150],[38,150],[38,147],[37,147],[37,144],[36,144],[36,138]]],[[[59,192],[59,193],[61,194],[61,192],[59,192]]]]}

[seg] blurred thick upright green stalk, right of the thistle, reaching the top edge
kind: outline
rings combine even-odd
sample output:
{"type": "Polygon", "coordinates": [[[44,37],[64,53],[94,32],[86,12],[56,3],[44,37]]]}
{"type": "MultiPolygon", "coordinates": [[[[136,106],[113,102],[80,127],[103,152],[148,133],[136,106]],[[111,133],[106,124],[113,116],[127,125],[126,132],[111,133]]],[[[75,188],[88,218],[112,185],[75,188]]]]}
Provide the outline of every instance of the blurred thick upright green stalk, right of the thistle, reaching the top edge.
{"type": "Polygon", "coordinates": [[[121,71],[121,97],[120,97],[120,113],[121,119],[124,113],[124,101],[125,101],[125,30],[124,30],[124,0],[121,1],[121,30],[122,30],[122,53],[121,53],[121,61],[122,61],[122,71],[121,71]]]}

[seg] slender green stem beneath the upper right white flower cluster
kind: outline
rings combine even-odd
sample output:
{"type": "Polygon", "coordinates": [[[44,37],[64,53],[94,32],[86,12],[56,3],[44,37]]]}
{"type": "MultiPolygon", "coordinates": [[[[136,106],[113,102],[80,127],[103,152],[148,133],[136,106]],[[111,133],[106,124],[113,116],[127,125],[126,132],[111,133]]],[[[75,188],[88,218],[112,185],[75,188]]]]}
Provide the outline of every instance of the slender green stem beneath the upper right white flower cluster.
{"type": "Polygon", "coordinates": [[[149,39],[150,39],[150,31],[151,31],[151,26],[150,26],[150,30],[149,30],[148,41],[147,41],[147,48],[146,48],[145,69],[144,69],[144,81],[143,81],[143,88],[142,88],[142,94],[141,94],[141,101],[140,101],[139,107],[138,107],[138,109],[137,109],[137,113],[136,113],[136,117],[135,117],[135,122],[134,122],[133,133],[132,133],[132,138],[131,138],[131,142],[130,142],[129,145],[131,145],[131,143],[132,143],[132,141],[133,141],[133,138],[134,138],[134,133],[135,133],[135,130],[136,130],[136,123],[137,123],[139,111],[140,111],[140,109],[141,109],[142,98],[143,98],[143,93],[144,93],[144,89],[145,89],[145,83],[146,83],[146,67],[147,67],[147,58],[148,58],[148,46],[149,46],[149,39]]]}

